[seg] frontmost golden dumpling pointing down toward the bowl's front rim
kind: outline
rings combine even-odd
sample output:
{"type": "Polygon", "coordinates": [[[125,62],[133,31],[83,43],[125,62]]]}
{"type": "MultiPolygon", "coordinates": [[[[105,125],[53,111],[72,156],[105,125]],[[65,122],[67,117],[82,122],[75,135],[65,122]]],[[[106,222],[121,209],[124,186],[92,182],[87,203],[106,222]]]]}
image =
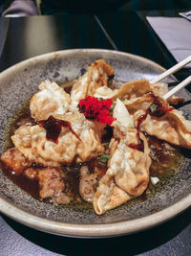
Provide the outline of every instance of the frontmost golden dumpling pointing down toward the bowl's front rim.
{"type": "Polygon", "coordinates": [[[149,182],[151,159],[146,138],[140,133],[143,151],[138,144],[136,128],[115,128],[115,138],[110,143],[111,158],[108,170],[99,181],[94,198],[96,214],[104,214],[131,198],[140,196],[149,182]]]}

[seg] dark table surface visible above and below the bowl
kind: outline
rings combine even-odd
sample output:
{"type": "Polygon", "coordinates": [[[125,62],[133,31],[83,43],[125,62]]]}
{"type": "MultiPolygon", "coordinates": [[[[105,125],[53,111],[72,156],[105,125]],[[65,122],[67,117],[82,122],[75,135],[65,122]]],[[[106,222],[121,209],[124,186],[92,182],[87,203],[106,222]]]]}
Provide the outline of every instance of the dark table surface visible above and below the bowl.
{"type": "MultiPolygon", "coordinates": [[[[176,63],[145,21],[130,8],[106,14],[0,18],[0,71],[48,52],[74,48],[114,49],[150,58],[165,68],[176,63]]],[[[155,12],[166,15],[162,10],[155,12]]],[[[168,15],[177,15],[169,10],[168,15]]],[[[182,69],[178,80],[190,74],[182,69]]],[[[189,89],[189,88],[188,88],[189,89]]],[[[0,216],[0,256],[191,255],[191,209],[158,227],[101,240],[58,237],[0,216]]]]}

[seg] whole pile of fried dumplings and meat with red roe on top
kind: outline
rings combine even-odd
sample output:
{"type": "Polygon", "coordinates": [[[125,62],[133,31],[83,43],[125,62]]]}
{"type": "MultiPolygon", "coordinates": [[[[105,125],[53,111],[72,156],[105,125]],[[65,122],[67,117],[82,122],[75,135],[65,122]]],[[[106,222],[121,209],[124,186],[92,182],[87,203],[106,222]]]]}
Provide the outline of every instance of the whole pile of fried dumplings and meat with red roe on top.
{"type": "Polygon", "coordinates": [[[153,151],[162,149],[156,141],[190,150],[191,121],[172,106],[181,98],[162,99],[167,84],[140,79],[112,89],[113,79],[113,67],[98,59],[70,93],[42,81],[30,101],[31,121],[17,123],[12,148],[1,155],[4,168],[35,180],[40,199],[84,200],[97,215],[141,196],[153,151]]]}

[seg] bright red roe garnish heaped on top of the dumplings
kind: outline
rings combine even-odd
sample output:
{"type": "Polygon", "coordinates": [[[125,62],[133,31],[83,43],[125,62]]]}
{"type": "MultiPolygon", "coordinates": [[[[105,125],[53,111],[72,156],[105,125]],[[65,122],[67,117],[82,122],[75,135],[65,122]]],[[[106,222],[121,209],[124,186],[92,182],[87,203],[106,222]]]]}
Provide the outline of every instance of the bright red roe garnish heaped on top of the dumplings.
{"type": "Polygon", "coordinates": [[[87,96],[77,105],[79,112],[83,113],[87,119],[97,120],[100,123],[112,125],[116,118],[111,116],[112,99],[98,100],[96,97],[87,96]]]}

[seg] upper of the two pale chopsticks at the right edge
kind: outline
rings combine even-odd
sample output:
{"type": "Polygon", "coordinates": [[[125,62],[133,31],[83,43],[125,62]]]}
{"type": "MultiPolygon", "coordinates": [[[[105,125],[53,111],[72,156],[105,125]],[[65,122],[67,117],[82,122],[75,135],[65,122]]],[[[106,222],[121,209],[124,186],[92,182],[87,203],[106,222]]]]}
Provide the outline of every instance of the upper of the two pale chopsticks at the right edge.
{"type": "MultiPolygon", "coordinates": [[[[161,75],[159,75],[159,77],[155,78],[154,80],[150,81],[150,83],[154,84],[156,82],[159,82],[163,79],[165,79],[166,77],[168,77],[169,75],[172,75],[173,73],[175,73],[176,71],[180,70],[180,68],[182,68],[183,66],[185,66],[186,64],[188,64],[189,62],[191,62],[191,56],[184,58],[183,60],[181,60],[179,63],[177,63],[175,66],[169,68],[168,70],[166,70],[165,72],[163,72],[161,75]]],[[[184,85],[185,86],[185,85],[184,85]]]]}

